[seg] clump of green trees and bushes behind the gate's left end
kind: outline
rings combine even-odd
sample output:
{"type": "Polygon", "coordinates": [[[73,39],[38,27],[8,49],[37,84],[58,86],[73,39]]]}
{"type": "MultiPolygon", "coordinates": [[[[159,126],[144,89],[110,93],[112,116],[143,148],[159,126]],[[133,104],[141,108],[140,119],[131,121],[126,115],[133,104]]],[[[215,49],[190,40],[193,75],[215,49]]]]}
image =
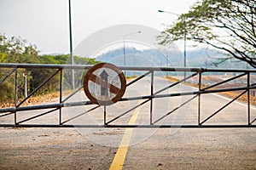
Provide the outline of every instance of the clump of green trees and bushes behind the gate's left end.
{"type": "MultiPolygon", "coordinates": [[[[6,37],[4,34],[0,34],[0,63],[33,63],[33,64],[56,64],[65,65],[69,60],[68,54],[60,55],[39,55],[36,46],[28,44],[25,40],[20,37],[6,37]]],[[[95,59],[82,58],[74,56],[74,62],[78,65],[95,65],[99,63],[95,59]]],[[[12,71],[9,68],[0,68],[0,81],[3,77],[8,75],[12,71]]],[[[23,74],[27,76],[28,92],[31,93],[33,90],[44,82],[48,77],[53,75],[55,70],[44,69],[19,69],[18,70],[18,88],[19,98],[24,97],[24,82],[23,74]]],[[[65,82],[70,82],[70,71],[64,72],[65,82]]],[[[84,70],[76,71],[75,83],[80,85],[84,70]]],[[[60,77],[55,76],[49,82],[47,82],[42,88],[40,88],[35,95],[49,94],[59,90],[60,77]]],[[[10,75],[5,82],[0,84],[0,102],[7,99],[15,99],[15,74],[10,75]]],[[[67,86],[70,86],[67,83],[67,86]]]]}

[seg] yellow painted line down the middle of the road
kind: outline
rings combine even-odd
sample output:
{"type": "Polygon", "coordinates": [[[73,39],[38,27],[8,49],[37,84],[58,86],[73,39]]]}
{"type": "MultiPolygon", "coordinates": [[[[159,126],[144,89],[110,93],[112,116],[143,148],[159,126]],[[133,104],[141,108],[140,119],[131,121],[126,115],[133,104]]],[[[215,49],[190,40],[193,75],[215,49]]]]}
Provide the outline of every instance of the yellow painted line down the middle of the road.
{"type": "MultiPolygon", "coordinates": [[[[140,107],[138,107],[133,115],[131,116],[130,121],[128,122],[129,125],[134,125],[136,120],[137,120],[137,116],[140,112],[140,107]]],[[[129,148],[129,144],[131,141],[131,135],[132,135],[132,131],[133,128],[126,128],[125,130],[125,134],[123,136],[123,139],[121,140],[121,143],[119,144],[119,149],[117,150],[112,164],[109,167],[109,170],[121,170],[124,166],[124,162],[125,162],[125,157],[129,148]]]]}

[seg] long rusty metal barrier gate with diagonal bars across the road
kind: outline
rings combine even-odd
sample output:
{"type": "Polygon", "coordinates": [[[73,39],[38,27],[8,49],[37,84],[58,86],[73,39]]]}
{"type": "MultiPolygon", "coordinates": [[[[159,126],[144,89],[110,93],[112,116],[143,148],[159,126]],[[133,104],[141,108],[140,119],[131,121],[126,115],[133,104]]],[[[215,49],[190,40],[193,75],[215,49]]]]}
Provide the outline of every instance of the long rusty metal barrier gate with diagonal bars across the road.
{"type": "MultiPolygon", "coordinates": [[[[128,82],[126,84],[126,87],[129,88],[131,84],[136,83],[137,81],[143,79],[144,77],[150,77],[151,80],[151,88],[148,95],[144,96],[137,96],[137,97],[130,97],[130,98],[122,98],[119,102],[127,101],[127,100],[142,100],[142,102],[134,107],[132,107],[129,111],[125,111],[124,113],[120,113],[119,116],[114,117],[112,120],[107,121],[106,116],[108,115],[108,112],[106,111],[106,107],[104,107],[104,113],[103,113],[103,122],[102,125],[90,125],[90,124],[68,124],[73,119],[78,118],[79,116],[82,116],[90,111],[95,111],[97,108],[100,107],[100,105],[96,105],[95,107],[90,108],[90,110],[85,111],[83,114],[73,116],[67,120],[62,120],[62,108],[64,107],[73,107],[73,106],[79,106],[79,105],[94,105],[90,102],[90,100],[84,100],[84,101],[77,101],[77,102],[67,102],[68,99],[70,99],[73,95],[77,94],[83,86],[80,86],[79,88],[73,90],[73,93],[67,95],[65,99],[63,99],[63,92],[62,92],[62,82],[63,82],[63,71],[64,70],[88,70],[93,65],[36,65],[36,64],[0,64],[0,69],[8,69],[9,73],[6,74],[5,77],[3,77],[3,80],[0,80],[0,85],[6,81],[11,75],[15,75],[15,106],[14,107],[8,107],[8,108],[1,108],[0,109],[0,127],[256,127],[256,114],[253,115],[251,113],[251,110],[254,110],[254,106],[251,105],[250,99],[251,99],[251,92],[255,92],[256,89],[256,83],[251,81],[252,75],[255,75],[256,70],[223,70],[223,69],[206,69],[206,68],[169,68],[169,67],[131,67],[131,66],[121,66],[119,67],[123,71],[143,71],[143,75],[140,77],[137,77],[136,79],[132,80],[131,82],[128,82]],[[54,70],[54,73],[50,75],[48,78],[44,80],[40,85],[38,85],[38,88],[35,88],[30,94],[28,94],[24,99],[22,99],[20,102],[18,102],[18,72],[21,69],[39,69],[39,70],[54,70]],[[172,82],[171,85],[168,85],[165,88],[160,89],[159,91],[154,92],[154,77],[155,73],[158,71],[167,71],[167,72],[179,72],[183,73],[186,72],[187,77],[184,77],[182,80],[178,80],[177,82],[172,82]],[[214,83],[210,86],[203,87],[202,84],[202,74],[211,74],[211,73],[236,73],[236,76],[230,77],[222,82],[214,83]],[[35,94],[38,89],[44,87],[44,84],[49,82],[50,79],[53,77],[59,77],[59,102],[54,104],[44,104],[44,105],[25,105],[22,106],[26,102],[27,99],[30,99],[33,94],[35,94]],[[171,93],[171,94],[160,94],[166,89],[173,88],[177,85],[182,84],[183,82],[187,82],[192,77],[198,77],[198,83],[195,91],[193,92],[177,92],[177,93],[171,93]],[[240,77],[247,77],[247,85],[242,87],[230,87],[230,88],[216,88],[219,85],[222,85],[226,82],[234,81],[240,77]],[[204,117],[202,120],[201,118],[201,109],[203,106],[201,105],[201,96],[203,94],[216,94],[216,93],[222,93],[222,92],[233,92],[237,91],[240,94],[238,94],[235,98],[230,99],[230,101],[220,107],[217,111],[214,111],[210,116],[204,117]],[[223,111],[224,108],[229,106],[231,103],[233,103],[236,99],[239,99],[241,95],[246,94],[247,95],[247,123],[244,124],[207,124],[212,117],[216,116],[220,111],[223,111]],[[177,96],[192,96],[191,99],[183,102],[181,105],[178,105],[176,108],[174,108],[172,111],[168,111],[165,115],[161,116],[156,121],[153,120],[153,102],[154,99],[160,99],[160,98],[172,98],[177,96]],[[197,123],[196,124],[157,124],[156,122],[160,122],[160,120],[163,120],[166,116],[171,115],[174,111],[177,111],[179,108],[183,107],[183,105],[188,104],[190,101],[197,99],[197,123]],[[125,116],[127,113],[136,110],[138,107],[148,103],[148,124],[137,124],[137,125],[130,125],[130,124],[121,124],[121,125],[113,125],[112,122],[116,121],[122,116],[125,116]],[[44,113],[40,113],[36,116],[30,116],[29,118],[26,118],[22,121],[17,121],[17,117],[19,116],[19,113],[21,111],[36,111],[36,110],[44,110],[44,109],[50,109],[50,111],[46,111],[44,113]],[[58,122],[55,124],[44,124],[44,122],[39,124],[29,124],[26,122],[29,122],[33,119],[36,119],[40,116],[48,115],[51,112],[58,111],[58,122]],[[6,123],[3,118],[6,116],[13,116],[13,122],[6,123]]],[[[4,90],[4,89],[1,89],[4,90]]]]}

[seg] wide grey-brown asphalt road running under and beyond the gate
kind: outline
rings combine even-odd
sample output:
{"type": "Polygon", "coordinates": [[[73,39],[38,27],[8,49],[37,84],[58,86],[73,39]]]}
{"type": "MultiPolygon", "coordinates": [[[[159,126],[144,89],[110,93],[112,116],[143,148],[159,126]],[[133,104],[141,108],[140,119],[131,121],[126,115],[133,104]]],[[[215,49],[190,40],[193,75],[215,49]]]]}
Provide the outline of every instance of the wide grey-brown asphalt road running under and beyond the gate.
{"type": "MultiPolygon", "coordinates": [[[[155,78],[154,92],[171,83],[155,78]]],[[[177,86],[161,94],[194,90],[177,86]]],[[[150,78],[145,77],[127,88],[125,97],[148,94],[150,78]]],[[[166,116],[192,97],[154,99],[152,122],[155,125],[196,125],[197,98],[166,116]]],[[[70,100],[81,99],[86,99],[83,92],[70,100]]],[[[107,106],[107,122],[148,125],[150,102],[114,120],[143,101],[129,100],[107,106]]],[[[229,101],[216,94],[202,95],[201,122],[229,101]]],[[[71,119],[92,107],[65,108],[61,119],[71,119]]],[[[102,125],[103,110],[103,107],[97,108],[67,124],[102,125]]],[[[255,117],[256,110],[251,111],[255,117]]],[[[57,123],[58,114],[51,113],[29,123],[57,123]]],[[[27,112],[20,113],[18,120],[26,115],[27,112]]],[[[11,122],[8,118],[12,116],[1,119],[1,123],[11,122]]],[[[246,123],[247,106],[235,102],[204,124],[246,123]]],[[[0,169],[256,169],[255,128],[2,127],[0,134],[0,169]]]]}

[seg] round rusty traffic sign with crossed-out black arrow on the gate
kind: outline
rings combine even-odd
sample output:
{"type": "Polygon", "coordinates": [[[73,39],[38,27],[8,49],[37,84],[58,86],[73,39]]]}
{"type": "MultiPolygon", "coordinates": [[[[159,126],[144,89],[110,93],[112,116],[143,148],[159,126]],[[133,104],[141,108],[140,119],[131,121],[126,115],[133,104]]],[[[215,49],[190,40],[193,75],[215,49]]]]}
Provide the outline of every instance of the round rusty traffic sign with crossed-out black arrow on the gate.
{"type": "Polygon", "coordinates": [[[94,104],[112,105],[125,94],[124,73],[115,65],[94,65],[84,76],[84,93],[94,104]]]}

